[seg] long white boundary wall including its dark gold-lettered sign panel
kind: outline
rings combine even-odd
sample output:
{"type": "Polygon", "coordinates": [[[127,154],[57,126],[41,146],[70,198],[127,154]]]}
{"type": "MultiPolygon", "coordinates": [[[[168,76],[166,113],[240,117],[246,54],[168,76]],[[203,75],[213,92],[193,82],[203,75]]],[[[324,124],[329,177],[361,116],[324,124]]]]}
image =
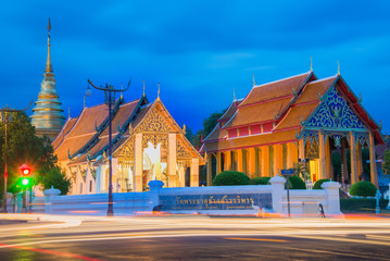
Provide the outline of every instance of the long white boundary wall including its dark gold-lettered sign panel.
{"type": "MultiPolygon", "coordinates": [[[[286,179],[275,176],[272,185],[164,188],[163,183],[149,183],[150,191],[113,195],[115,215],[135,215],[154,210],[171,213],[255,214],[260,210],[288,213],[286,179]]],[[[292,216],[319,216],[319,204],[326,216],[340,215],[340,184],[327,182],[324,189],[290,190],[292,216]]],[[[108,194],[59,196],[60,190],[47,189],[45,197],[33,200],[34,213],[105,215],[108,194]]],[[[9,200],[9,212],[21,212],[21,197],[9,200]],[[15,202],[15,203],[14,203],[15,202]]]]}

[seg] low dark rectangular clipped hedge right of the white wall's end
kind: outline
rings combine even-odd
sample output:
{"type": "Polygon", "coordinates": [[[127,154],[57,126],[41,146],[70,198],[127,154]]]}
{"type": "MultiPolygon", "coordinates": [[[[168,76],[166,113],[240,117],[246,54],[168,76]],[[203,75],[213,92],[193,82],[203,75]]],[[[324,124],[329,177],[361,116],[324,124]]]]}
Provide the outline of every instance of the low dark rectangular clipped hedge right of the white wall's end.
{"type": "MultiPolygon", "coordinates": [[[[379,200],[379,208],[386,209],[388,206],[388,199],[379,200]]],[[[375,213],[376,199],[373,198],[349,198],[340,199],[341,212],[350,213],[375,213]]]]}

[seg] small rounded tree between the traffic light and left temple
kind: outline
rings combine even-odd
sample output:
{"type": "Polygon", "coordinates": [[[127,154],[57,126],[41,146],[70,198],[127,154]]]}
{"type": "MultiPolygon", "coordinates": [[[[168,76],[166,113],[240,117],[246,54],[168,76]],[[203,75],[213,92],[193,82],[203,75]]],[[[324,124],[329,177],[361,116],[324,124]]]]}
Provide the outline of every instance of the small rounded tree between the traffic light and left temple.
{"type": "Polygon", "coordinates": [[[66,195],[72,185],[71,178],[67,177],[65,172],[59,166],[48,170],[45,175],[41,175],[38,178],[38,182],[42,185],[43,189],[49,189],[51,187],[60,189],[61,195],[66,195]]]}

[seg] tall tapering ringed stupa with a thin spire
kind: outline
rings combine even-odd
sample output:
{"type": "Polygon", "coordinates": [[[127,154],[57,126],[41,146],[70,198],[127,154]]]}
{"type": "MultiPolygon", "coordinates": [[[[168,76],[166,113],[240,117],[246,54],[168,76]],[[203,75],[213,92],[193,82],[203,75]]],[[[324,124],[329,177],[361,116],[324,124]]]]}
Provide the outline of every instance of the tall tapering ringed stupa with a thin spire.
{"type": "Polygon", "coordinates": [[[33,109],[32,124],[35,126],[37,136],[48,136],[53,140],[64,125],[65,117],[55,89],[55,79],[53,69],[51,66],[50,57],[50,18],[48,23],[48,58],[43,80],[40,84],[40,92],[38,100],[33,109]]]}

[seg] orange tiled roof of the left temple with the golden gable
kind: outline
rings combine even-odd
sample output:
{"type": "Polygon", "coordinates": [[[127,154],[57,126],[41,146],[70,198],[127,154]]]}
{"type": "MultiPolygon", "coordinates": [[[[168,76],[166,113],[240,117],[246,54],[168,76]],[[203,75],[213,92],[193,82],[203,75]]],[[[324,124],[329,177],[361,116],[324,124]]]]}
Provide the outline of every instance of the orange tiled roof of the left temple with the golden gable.
{"type": "MultiPolygon", "coordinates": [[[[112,119],[113,156],[125,142],[130,140],[137,128],[144,125],[146,119],[154,109],[169,119],[173,132],[179,134],[183,132],[166,111],[160,98],[153,103],[148,102],[146,96],[127,103],[123,103],[121,99],[115,102],[112,119]]],[[[109,147],[108,115],[106,105],[99,104],[85,108],[78,117],[68,120],[61,132],[62,136],[53,141],[54,153],[59,161],[68,162],[68,165],[99,161],[101,159],[99,156],[103,156],[109,147]]],[[[201,164],[204,164],[203,158],[189,144],[184,134],[178,135],[178,140],[185,144],[185,147],[191,150],[194,157],[200,157],[201,164]]]]}

